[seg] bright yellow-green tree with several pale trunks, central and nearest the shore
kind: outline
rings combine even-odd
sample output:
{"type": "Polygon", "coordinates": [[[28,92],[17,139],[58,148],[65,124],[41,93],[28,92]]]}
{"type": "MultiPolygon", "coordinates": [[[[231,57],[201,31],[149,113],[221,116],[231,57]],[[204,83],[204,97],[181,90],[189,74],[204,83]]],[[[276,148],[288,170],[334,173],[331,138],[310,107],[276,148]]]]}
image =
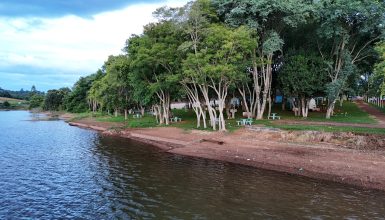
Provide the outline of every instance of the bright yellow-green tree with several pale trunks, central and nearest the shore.
{"type": "MultiPolygon", "coordinates": [[[[197,52],[188,54],[183,63],[186,75],[193,75],[197,81],[207,106],[211,106],[208,88],[214,91],[218,101],[219,130],[226,130],[223,109],[228,89],[238,80],[238,65],[254,45],[246,27],[232,29],[213,24],[207,29],[197,52]]],[[[209,109],[209,115],[211,119],[217,118],[215,109],[209,109]]],[[[212,120],[211,124],[215,130],[216,122],[212,120]]]]}

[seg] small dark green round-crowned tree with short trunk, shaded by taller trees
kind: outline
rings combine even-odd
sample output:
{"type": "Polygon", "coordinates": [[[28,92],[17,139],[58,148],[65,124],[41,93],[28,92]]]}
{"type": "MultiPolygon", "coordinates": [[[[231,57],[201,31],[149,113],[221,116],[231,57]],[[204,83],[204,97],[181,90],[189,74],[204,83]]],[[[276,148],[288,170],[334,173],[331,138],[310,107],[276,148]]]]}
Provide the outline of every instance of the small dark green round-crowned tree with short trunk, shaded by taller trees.
{"type": "MultiPolygon", "coordinates": [[[[308,116],[310,99],[325,90],[325,69],[325,64],[319,56],[295,52],[285,59],[280,70],[279,80],[283,92],[286,96],[299,98],[304,118],[308,116]]],[[[294,102],[292,104],[297,108],[294,102]]]]}

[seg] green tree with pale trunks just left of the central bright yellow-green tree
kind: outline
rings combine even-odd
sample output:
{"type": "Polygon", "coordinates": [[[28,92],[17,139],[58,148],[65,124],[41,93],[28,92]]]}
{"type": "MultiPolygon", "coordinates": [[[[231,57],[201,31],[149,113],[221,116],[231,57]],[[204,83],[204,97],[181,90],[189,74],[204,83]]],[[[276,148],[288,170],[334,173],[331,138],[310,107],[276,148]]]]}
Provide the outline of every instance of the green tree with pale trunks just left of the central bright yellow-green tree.
{"type": "Polygon", "coordinates": [[[180,71],[181,28],[172,21],[151,23],[142,36],[133,36],[127,41],[126,51],[131,59],[134,81],[140,81],[150,96],[159,104],[154,105],[160,124],[169,124],[170,102],[178,94],[177,74],[180,71]]]}

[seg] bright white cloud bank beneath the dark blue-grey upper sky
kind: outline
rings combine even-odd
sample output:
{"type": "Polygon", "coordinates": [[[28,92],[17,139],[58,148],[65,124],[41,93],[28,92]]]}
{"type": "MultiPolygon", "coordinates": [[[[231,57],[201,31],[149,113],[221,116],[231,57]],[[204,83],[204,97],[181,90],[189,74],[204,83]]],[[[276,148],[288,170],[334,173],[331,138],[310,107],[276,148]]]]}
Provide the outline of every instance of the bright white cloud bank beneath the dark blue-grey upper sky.
{"type": "Polygon", "coordinates": [[[182,6],[186,2],[136,4],[91,18],[0,17],[0,71],[28,66],[77,77],[95,72],[108,55],[121,53],[131,34],[140,34],[143,25],[154,20],[152,12],[156,8],[182,6]]]}

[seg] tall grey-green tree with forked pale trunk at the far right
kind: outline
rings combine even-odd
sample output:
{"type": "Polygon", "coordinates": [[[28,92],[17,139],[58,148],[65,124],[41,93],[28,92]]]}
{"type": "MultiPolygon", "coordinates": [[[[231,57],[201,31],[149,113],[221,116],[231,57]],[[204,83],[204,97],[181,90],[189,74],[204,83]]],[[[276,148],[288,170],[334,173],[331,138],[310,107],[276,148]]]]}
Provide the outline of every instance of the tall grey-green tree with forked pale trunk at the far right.
{"type": "Polygon", "coordinates": [[[323,0],[316,3],[319,18],[318,49],[328,62],[330,118],[341,90],[357,65],[375,55],[373,46],[383,34],[384,1],[323,0]]]}

